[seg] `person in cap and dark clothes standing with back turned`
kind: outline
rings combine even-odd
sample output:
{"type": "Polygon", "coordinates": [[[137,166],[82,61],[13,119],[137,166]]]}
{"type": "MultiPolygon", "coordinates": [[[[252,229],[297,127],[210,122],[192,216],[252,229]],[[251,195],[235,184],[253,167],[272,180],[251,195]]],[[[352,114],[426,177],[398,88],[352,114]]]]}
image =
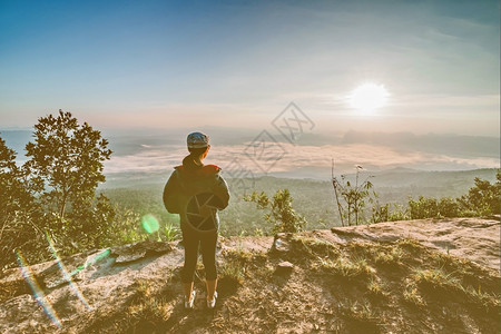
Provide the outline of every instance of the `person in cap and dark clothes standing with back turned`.
{"type": "Polygon", "coordinates": [[[194,307],[196,291],[194,275],[198,248],[205,267],[207,307],[214,308],[217,298],[216,244],[219,228],[217,212],[228,206],[229,191],[216,165],[204,165],[210,148],[209,138],[202,132],[187,137],[189,155],[183,165],[174,167],[165,188],[164,205],[171,214],[179,214],[185,264],[181,281],[185,308],[194,307]]]}

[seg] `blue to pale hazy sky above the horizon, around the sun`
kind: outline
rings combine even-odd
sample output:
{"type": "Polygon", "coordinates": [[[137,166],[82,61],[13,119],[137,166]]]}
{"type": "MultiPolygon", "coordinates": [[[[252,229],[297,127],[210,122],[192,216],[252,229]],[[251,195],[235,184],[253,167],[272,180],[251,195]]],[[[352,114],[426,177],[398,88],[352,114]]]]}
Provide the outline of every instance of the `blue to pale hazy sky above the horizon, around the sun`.
{"type": "Polygon", "coordinates": [[[0,128],[261,130],[294,101],[317,132],[499,137],[499,1],[0,0],[0,128]]]}

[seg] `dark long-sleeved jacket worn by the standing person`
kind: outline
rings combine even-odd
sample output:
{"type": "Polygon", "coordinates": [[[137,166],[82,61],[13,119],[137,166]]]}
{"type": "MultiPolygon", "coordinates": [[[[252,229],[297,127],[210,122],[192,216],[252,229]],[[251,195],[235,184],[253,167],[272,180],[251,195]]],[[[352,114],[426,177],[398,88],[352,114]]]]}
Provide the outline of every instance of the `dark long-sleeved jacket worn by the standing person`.
{"type": "MultiPolygon", "coordinates": [[[[219,209],[228,206],[229,191],[226,181],[219,175],[220,168],[216,165],[205,165],[196,169],[185,166],[174,167],[164,188],[164,205],[171,214],[179,214],[180,227],[187,224],[186,206],[188,200],[199,193],[213,193],[220,199],[219,209]]],[[[217,228],[219,217],[216,213],[217,228]]]]}

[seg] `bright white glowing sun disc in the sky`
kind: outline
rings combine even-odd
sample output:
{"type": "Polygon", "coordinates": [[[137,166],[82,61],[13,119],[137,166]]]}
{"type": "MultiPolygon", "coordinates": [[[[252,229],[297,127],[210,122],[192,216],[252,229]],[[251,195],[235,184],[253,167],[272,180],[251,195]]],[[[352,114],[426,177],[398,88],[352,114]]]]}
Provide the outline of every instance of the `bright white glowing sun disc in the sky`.
{"type": "Polygon", "coordinates": [[[390,94],[383,85],[366,82],[347,96],[350,106],[361,114],[371,115],[386,104],[390,94]]]}

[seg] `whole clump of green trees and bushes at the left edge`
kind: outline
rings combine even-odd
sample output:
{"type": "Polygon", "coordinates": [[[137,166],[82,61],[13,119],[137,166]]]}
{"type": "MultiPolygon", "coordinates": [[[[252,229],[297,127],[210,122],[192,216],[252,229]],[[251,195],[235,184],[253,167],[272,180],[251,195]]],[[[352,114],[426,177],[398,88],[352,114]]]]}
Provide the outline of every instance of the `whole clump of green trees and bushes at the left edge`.
{"type": "Polygon", "coordinates": [[[108,141],[62,110],[39,118],[33,138],[22,168],[0,138],[0,267],[16,264],[17,249],[28,262],[47,259],[46,233],[61,255],[109,246],[118,235],[115,208],[96,197],[108,141]]]}

